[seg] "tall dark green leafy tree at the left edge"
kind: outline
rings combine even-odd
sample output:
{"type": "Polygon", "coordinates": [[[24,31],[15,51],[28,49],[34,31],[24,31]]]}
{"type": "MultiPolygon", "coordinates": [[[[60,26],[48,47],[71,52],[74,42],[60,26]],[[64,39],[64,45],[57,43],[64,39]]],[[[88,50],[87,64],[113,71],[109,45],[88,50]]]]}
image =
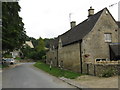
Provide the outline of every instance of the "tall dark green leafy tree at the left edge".
{"type": "Polygon", "coordinates": [[[24,23],[18,13],[20,8],[18,2],[2,3],[2,49],[4,51],[19,49],[25,42],[24,23]]]}

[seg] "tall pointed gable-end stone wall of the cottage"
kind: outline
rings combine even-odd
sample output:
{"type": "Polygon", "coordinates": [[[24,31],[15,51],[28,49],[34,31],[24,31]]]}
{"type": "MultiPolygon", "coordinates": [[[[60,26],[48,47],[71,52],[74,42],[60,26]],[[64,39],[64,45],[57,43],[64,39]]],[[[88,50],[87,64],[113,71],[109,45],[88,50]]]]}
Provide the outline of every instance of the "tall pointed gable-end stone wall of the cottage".
{"type": "Polygon", "coordinates": [[[82,42],[83,61],[95,62],[96,58],[110,59],[110,43],[118,43],[118,26],[110,14],[103,14],[96,25],[84,38],[82,42]],[[105,33],[111,33],[112,42],[105,42],[105,33]]]}

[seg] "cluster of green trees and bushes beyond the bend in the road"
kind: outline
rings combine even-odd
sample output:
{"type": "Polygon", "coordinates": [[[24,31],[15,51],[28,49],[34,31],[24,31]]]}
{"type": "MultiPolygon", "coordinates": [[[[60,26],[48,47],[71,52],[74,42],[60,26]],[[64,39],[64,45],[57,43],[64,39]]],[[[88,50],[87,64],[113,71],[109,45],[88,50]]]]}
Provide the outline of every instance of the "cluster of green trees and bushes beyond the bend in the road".
{"type": "Polygon", "coordinates": [[[21,51],[23,53],[23,58],[24,59],[33,59],[33,60],[41,60],[45,59],[46,57],[46,51],[48,50],[50,46],[50,41],[52,39],[35,39],[33,37],[27,37],[27,41],[31,41],[33,43],[34,48],[30,48],[28,45],[25,47],[23,46],[21,48],[21,51]]]}

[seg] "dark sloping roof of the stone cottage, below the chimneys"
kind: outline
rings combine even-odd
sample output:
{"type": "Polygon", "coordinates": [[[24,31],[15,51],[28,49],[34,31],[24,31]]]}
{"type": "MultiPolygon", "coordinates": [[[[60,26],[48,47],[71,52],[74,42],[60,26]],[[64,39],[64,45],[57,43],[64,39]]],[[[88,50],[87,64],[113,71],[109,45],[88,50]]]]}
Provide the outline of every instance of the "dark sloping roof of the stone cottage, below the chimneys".
{"type": "Polygon", "coordinates": [[[96,24],[104,9],[94,14],[93,16],[88,17],[88,19],[79,23],[77,26],[71,28],[62,35],[59,35],[56,39],[54,39],[52,45],[54,45],[55,48],[57,48],[59,38],[61,38],[63,46],[80,41],[93,29],[94,25],[96,24]]]}

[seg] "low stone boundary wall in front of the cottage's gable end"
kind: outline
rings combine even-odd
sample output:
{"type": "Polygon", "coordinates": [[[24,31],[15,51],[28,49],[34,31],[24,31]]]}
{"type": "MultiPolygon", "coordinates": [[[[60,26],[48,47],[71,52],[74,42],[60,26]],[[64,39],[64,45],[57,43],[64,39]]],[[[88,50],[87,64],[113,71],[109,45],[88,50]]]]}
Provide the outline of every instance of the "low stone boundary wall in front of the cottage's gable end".
{"type": "Polygon", "coordinates": [[[106,73],[112,73],[113,75],[118,75],[120,65],[119,64],[92,64],[84,63],[83,64],[83,73],[94,75],[94,76],[103,76],[106,73]]]}

